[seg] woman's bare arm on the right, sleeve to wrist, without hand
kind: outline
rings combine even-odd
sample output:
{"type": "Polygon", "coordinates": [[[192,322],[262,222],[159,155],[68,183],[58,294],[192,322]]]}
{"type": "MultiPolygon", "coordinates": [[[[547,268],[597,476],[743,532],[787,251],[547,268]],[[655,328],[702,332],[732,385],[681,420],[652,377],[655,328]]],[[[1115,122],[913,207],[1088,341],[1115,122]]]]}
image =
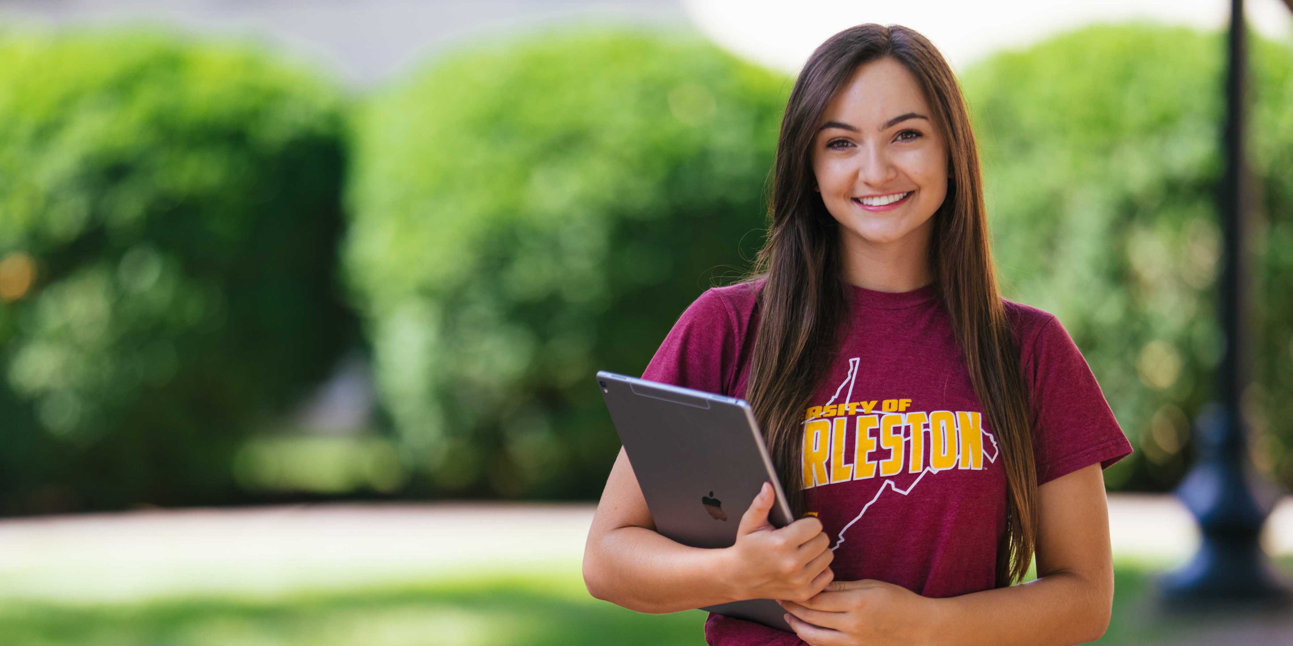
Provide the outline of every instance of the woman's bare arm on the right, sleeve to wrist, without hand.
{"type": "Polygon", "coordinates": [[[1037,580],[930,599],[931,643],[1072,645],[1104,634],[1113,554],[1100,465],[1042,484],[1037,503],[1037,580]]]}

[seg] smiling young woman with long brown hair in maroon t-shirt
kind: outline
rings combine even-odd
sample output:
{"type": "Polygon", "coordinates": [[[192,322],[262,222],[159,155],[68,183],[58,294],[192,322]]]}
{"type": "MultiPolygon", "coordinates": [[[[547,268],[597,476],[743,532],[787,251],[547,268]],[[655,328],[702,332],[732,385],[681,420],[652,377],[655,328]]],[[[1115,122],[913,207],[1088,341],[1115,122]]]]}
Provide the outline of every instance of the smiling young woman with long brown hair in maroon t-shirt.
{"type": "Polygon", "coordinates": [[[621,450],[588,590],[643,612],[775,598],[794,628],[710,614],[711,646],[1099,638],[1103,468],[1131,447],[1060,322],[1001,297],[965,101],[927,39],[860,25],[813,52],[769,217],[755,273],[702,293],[643,379],[750,402],[799,519],[767,522],[765,484],[734,545],[681,545],[621,450]]]}

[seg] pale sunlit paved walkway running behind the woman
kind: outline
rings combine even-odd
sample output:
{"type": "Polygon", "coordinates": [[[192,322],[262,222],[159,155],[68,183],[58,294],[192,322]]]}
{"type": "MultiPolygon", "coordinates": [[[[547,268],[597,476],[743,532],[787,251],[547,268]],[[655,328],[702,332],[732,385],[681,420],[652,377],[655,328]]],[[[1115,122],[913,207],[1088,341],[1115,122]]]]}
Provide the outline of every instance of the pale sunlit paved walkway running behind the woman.
{"type": "MultiPolygon", "coordinates": [[[[131,601],[277,594],[482,571],[578,568],[592,504],[325,504],[0,521],[0,596],[131,601]]],[[[1115,554],[1165,567],[1197,531],[1170,496],[1109,496],[1115,554]]],[[[1293,497],[1265,545],[1293,553],[1293,497]]]]}

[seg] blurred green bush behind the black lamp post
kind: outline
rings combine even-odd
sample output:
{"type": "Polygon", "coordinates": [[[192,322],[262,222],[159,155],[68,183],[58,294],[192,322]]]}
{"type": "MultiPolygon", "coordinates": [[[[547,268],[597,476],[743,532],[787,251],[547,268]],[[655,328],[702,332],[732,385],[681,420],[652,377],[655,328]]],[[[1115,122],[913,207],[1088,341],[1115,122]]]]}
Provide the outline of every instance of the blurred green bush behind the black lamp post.
{"type": "MultiPolygon", "coordinates": [[[[1258,466],[1293,484],[1293,49],[1249,32],[1258,466]]],[[[1006,296],[1059,317],[1138,452],[1111,487],[1183,474],[1218,397],[1224,34],[1096,26],[963,75],[1006,296]]]]}

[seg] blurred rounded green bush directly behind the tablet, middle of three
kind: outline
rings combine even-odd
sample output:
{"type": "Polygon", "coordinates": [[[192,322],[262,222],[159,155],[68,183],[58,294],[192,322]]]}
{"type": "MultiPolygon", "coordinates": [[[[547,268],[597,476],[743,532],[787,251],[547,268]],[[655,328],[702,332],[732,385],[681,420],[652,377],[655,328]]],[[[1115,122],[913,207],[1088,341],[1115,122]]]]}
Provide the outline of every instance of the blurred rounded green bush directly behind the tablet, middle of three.
{"type": "Polygon", "coordinates": [[[361,109],[344,264],[415,483],[601,490],[593,376],[640,375],[709,273],[753,258],[789,89],[693,34],[568,28],[361,109]]]}

